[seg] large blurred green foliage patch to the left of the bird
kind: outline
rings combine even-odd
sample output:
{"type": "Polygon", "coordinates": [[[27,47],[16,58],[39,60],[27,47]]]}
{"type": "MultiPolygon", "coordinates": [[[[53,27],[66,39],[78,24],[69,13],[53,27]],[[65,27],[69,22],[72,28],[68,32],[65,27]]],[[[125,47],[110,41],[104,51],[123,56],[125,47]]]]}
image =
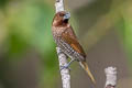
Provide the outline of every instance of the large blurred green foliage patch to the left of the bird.
{"type": "Polygon", "coordinates": [[[40,88],[53,88],[57,76],[57,56],[51,32],[54,7],[42,0],[1,0],[0,7],[3,16],[0,19],[4,21],[0,22],[0,32],[3,32],[2,28],[7,31],[0,45],[7,50],[7,63],[20,61],[30,47],[35,48],[43,63],[40,88]]]}

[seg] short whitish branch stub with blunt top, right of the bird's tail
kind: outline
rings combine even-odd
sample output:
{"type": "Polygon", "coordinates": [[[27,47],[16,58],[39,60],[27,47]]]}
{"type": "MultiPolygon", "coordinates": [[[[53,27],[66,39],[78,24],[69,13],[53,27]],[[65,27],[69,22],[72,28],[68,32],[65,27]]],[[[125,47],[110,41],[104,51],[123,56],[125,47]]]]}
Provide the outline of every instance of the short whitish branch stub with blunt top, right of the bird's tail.
{"type": "Polygon", "coordinates": [[[116,88],[117,85],[117,68],[108,67],[105,69],[107,80],[105,88],[116,88]]]}

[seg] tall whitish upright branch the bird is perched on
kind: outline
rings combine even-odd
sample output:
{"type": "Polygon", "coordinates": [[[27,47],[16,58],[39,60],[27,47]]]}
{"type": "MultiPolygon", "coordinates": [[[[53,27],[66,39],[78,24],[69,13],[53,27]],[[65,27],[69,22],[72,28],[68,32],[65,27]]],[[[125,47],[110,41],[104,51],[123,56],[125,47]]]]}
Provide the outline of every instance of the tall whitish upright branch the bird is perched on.
{"type": "MultiPolygon", "coordinates": [[[[56,0],[55,8],[56,8],[56,13],[64,11],[64,1],[56,0]]],[[[59,47],[56,47],[56,51],[57,51],[57,55],[58,55],[59,69],[61,69],[62,66],[67,65],[67,56],[62,52],[62,50],[59,47]]],[[[63,88],[70,88],[69,69],[68,68],[62,69],[61,75],[62,75],[63,88]]]]}

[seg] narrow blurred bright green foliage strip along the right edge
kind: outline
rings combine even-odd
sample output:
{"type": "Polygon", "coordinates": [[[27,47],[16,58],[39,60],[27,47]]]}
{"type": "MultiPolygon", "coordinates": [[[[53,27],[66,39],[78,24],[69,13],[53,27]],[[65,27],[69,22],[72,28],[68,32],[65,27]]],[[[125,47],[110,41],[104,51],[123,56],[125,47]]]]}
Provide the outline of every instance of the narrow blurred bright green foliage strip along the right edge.
{"type": "Polygon", "coordinates": [[[132,1],[128,0],[122,8],[124,20],[124,45],[128,51],[129,64],[132,66],[132,1]]]}

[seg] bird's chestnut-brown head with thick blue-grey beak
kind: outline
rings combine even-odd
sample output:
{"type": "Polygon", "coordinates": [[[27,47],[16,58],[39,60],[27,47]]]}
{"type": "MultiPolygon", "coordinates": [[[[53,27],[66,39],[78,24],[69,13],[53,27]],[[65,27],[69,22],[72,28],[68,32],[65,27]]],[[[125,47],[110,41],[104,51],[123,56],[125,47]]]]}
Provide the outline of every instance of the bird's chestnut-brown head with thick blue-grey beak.
{"type": "Polygon", "coordinates": [[[58,12],[55,14],[54,20],[53,20],[53,25],[64,25],[68,23],[68,20],[70,18],[69,12],[58,12]]]}

